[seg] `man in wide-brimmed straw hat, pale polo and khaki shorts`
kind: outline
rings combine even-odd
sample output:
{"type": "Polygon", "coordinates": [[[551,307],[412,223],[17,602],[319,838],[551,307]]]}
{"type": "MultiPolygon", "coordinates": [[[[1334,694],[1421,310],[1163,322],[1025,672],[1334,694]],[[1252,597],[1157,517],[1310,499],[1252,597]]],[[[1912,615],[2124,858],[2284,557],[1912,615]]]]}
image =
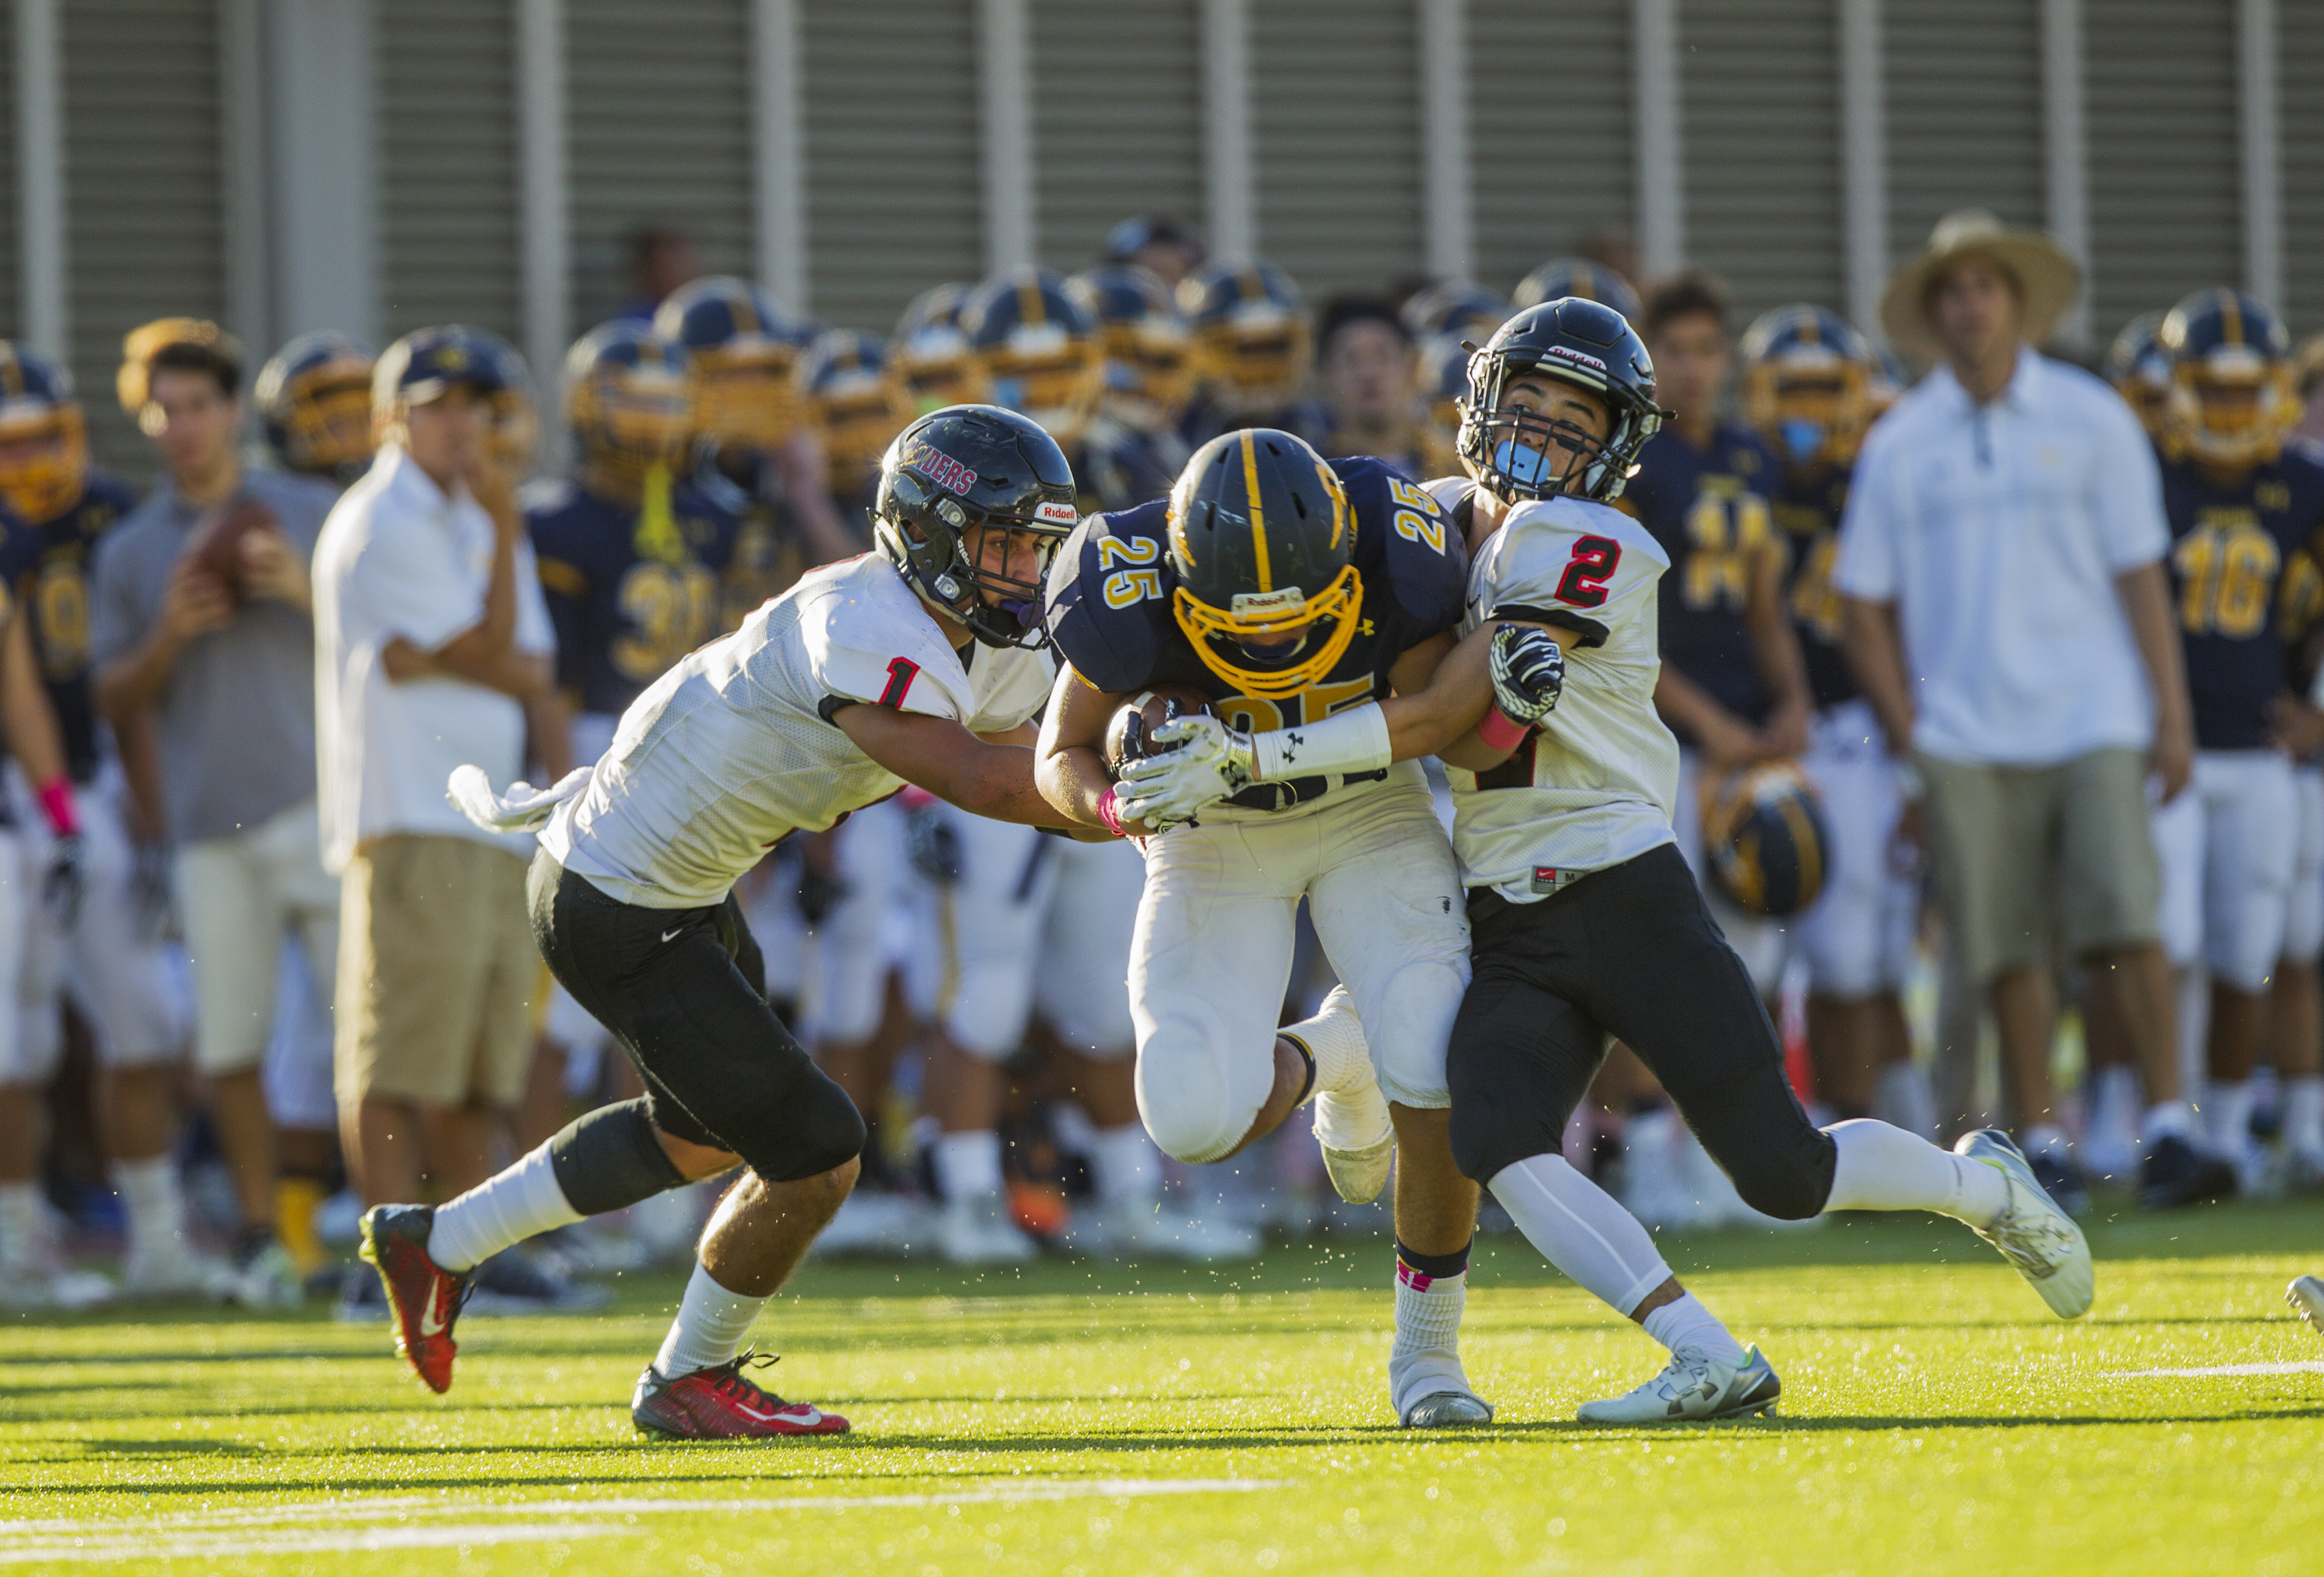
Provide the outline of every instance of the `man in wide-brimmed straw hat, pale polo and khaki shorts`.
{"type": "Polygon", "coordinates": [[[2036,1173],[2082,1196],[2050,1085],[2061,948],[2133,1038],[2140,1201],[2178,1205],[2233,1187],[2180,1094],[2147,829],[2147,778],[2187,785],[2194,729],[2154,451],[2106,383],[2033,351],[2080,283],[2054,239],[1980,209],[1896,269],[1880,323],[1936,369],[1864,444],[1834,583],[2036,1173]]]}

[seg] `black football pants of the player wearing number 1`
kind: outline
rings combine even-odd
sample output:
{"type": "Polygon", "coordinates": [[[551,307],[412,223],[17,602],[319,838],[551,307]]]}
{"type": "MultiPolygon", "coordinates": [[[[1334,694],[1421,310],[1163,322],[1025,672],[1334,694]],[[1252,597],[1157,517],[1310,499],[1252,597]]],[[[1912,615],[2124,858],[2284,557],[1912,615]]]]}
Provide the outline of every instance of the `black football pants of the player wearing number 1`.
{"type": "Polygon", "coordinates": [[[769,1182],[827,1173],[862,1150],[855,1103],[767,1006],[767,966],[734,894],[711,908],[641,908],[541,850],[528,901],[551,973],[637,1064],[662,1133],[739,1154],[769,1182]]]}

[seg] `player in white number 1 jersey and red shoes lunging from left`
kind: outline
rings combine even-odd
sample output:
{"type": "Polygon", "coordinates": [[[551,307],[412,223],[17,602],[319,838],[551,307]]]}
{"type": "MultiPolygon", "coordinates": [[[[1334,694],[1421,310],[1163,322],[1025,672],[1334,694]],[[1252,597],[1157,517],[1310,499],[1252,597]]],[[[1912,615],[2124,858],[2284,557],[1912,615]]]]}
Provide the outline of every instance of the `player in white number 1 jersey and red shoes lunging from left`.
{"type": "Polygon", "coordinates": [[[553,790],[497,797],[474,766],[453,773],[479,824],[546,822],[535,936],[646,1094],[449,1205],[365,1217],[363,1256],[432,1389],[451,1384],[469,1268],[739,1161],[630,1417],[683,1440],[846,1428],[765,1394],[737,1356],[855,1182],[865,1122],[767,1008],[734,883],[792,831],[904,783],[995,820],[1060,820],[1032,780],[1027,720],[1050,681],[1041,576],[1074,523],[1074,474],[1034,423],[995,406],[923,416],[883,460],[876,553],[809,574],[676,662],[607,755],[553,790]]]}

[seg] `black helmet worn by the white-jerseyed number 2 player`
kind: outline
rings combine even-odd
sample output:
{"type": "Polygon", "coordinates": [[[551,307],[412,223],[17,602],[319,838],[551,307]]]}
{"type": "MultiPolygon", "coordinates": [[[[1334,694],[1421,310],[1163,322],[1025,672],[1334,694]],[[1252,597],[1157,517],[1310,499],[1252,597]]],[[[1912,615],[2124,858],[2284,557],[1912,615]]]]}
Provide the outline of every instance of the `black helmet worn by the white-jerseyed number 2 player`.
{"type": "Polygon", "coordinates": [[[1611,504],[1638,474],[1638,451],[1664,416],[1655,404],[1655,358],[1638,332],[1613,307],[1569,295],[1527,307],[1469,358],[1459,458],[1478,485],[1508,502],[1569,492],[1611,504]],[[1508,386],[1525,376],[1559,379],[1604,399],[1606,437],[1504,409],[1508,386]],[[1557,474],[1545,444],[1552,437],[1573,455],[1557,474]]]}

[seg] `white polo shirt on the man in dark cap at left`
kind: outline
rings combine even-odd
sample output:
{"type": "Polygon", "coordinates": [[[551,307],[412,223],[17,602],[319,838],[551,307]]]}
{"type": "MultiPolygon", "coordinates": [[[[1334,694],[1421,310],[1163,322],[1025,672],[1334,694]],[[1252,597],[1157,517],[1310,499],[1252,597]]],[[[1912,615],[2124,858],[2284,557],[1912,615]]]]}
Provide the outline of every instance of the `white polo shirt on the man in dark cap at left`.
{"type": "MultiPolygon", "coordinates": [[[[444,799],[451,769],[476,762],[495,785],[523,776],[525,708],[465,678],[390,683],[381,648],[435,650],[483,620],[493,518],[446,495],[395,444],[346,490],[314,548],[314,725],[323,864],[390,831],[476,838],[528,852],[530,834],[479,831],[444,799]]],[[[516,650],[555,653],[532,543],[516,539],[516,650]]]]}

